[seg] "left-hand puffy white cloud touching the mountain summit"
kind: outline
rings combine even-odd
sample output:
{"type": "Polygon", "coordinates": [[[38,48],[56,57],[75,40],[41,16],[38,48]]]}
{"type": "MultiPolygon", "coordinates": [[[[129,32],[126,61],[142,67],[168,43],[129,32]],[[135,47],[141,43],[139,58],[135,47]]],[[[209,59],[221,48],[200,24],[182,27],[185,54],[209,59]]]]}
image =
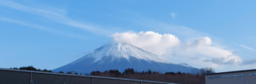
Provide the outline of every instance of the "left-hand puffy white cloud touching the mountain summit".
{"type": "Polygon", "coordinates": [[[154,31],[115,33],[113,34],[113,40],[130,43],[157,55],[165,53],[168,48],[177,46],[179,43],[179,39],[172,34],[159,34],[154,31]]]}

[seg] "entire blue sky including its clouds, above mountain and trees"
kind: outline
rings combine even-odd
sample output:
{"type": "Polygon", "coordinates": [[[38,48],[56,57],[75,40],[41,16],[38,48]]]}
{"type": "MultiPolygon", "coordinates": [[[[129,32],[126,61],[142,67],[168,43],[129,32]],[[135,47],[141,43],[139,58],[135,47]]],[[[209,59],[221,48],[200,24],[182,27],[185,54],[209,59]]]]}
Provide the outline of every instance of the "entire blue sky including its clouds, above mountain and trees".
{"type": "Polygon", "coordinates": [[[53,70],[115,40],[148,42],[143,49],[175,64],[217,72],[255,69],[255,3],[0,0],[0,67],[53,70]]]}

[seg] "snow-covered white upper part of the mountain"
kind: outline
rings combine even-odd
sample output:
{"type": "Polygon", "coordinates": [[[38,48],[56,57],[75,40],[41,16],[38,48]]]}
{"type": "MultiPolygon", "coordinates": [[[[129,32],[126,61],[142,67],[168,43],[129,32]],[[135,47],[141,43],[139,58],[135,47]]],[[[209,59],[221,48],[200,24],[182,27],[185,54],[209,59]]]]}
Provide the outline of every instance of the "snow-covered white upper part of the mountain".
{"type": "Polygon", "coordinates": [[[112,56],[113,59],[125,58],[128,61],[131,57],[134,57],[136,59],[144,59],[148,62],[155,61],[160,63],[171,63],[166,59],[161,59],[159,56],[153,53],[149,53],[148,51],[124,42],[109,42],[101,48],[97,48],[96,50],[92,51],[85,58],[93,57],[95,59],[94,62],[97,62],[106,56],[112,56]]]}

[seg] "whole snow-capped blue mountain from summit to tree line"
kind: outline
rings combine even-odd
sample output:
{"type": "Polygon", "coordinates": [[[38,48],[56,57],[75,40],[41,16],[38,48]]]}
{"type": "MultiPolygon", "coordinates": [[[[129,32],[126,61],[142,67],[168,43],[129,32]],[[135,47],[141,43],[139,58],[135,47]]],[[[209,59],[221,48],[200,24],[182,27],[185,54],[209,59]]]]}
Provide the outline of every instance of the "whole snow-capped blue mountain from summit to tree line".
{"type": "Polygon", "coordinates": [[[93,70],[119,70],[133,68],[137,71],[153,70],[160,72],[189,73],[194,67],[189,64],[173,64],[153,53],[137,48],[129,43],[109,42],[101,48],[86,54],[84,57],[66,64],[53,71],[76,71],[90,73],[93,70]]]}

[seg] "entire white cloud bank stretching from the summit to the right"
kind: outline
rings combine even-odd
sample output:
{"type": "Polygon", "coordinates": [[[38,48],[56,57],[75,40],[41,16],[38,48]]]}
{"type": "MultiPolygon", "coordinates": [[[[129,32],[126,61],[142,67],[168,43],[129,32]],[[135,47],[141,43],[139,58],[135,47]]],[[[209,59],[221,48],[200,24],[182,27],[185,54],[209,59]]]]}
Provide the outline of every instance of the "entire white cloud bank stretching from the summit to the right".
{"type": "Polygon", "coordinates": [[[127,31],[113,34],[113,40],[131,43],[138,48],[161,55],[162,58],[173,63],[188,63],[195,67],[214,68],[242,63],[242,59],[230,50],[213,46],[210,37],[181,42],[177,36],[172,34],[127,31]]]}

